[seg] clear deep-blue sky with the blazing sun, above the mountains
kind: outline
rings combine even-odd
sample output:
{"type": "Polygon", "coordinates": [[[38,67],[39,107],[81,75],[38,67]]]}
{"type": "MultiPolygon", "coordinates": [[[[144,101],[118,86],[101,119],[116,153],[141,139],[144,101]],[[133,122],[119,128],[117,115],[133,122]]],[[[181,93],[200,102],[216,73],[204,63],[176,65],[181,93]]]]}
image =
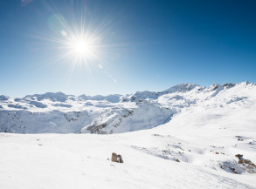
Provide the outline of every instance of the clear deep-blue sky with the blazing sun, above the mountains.
{"type": "Polygon", "coordinates": [[[0,94],[255,82],[255,18],[254,0],[0,1],[0,94]]]}

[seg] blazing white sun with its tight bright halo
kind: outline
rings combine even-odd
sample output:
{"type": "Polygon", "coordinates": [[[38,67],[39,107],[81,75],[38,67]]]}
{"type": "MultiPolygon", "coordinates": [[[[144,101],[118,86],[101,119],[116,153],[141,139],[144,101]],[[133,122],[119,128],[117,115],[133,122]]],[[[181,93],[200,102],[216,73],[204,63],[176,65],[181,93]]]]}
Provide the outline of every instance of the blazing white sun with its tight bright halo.
{"type": "Polygon", "coordinates": [[[87,70],[95,65],[103,69],[109,51],[110,45],[104,40],[106,26],[93,27],[85,19],[82,17],[79,21],[68,23],[65,17],[57,14],[49,20],[49,25],[56,34],[47,36],[46,39],[52,42],[54,48],[59,49],[59,56],[53,61],[65,58],[71,64],[72,71],[75,66],[80,65],[85,65],[87,70]]]}

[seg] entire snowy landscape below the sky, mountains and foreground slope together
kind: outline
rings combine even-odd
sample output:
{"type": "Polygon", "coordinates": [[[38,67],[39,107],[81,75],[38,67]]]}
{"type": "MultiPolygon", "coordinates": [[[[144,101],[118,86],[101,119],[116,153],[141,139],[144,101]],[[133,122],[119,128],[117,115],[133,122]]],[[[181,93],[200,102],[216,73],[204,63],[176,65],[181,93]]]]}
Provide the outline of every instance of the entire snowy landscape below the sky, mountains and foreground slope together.
{"type": "Polygon", "coordinates": [[[247,82],[0,96],[0,188],[256,188],[255,115],[247,82]]]}

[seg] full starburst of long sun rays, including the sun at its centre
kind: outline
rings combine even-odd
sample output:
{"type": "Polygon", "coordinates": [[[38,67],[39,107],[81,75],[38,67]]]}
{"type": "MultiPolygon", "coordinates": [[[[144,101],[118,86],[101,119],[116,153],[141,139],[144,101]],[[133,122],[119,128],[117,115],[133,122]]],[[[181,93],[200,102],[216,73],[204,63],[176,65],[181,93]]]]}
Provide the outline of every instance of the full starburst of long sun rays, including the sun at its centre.
{"type": "Polygon", "coordinates": [[[35,69],[58,64],[66,69],[64,74],[67,81],[83,72],[86,80],[93,82],[104,78],[105,81],[122,88],[117,82],[118,66],[114,61],[119,58],[117,55],[123,52],[123,48],[131,46],[123,41],[115,25],[122,9],[101,17],[86,2],[81,3],[79,9],[76,7],[78,4],[72,4],[72,8],[66,11],[55,8],[51,3],[47,5],[52,12],[47,18],[48,30],[35,30],[33,33],[50,53],[46,57],[47,61],[35,69]],[[110,78],[109,75],[114,77],[110,78]]]}

